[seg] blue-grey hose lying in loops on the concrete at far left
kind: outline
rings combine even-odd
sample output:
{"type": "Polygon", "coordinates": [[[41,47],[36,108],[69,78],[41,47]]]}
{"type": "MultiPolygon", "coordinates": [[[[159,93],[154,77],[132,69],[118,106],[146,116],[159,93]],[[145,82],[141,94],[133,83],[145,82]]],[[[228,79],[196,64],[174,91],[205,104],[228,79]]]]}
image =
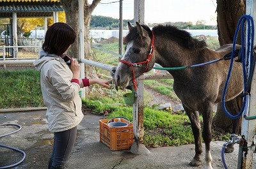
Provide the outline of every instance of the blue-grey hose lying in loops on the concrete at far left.
{"type": "MultiPolygon", "coordinates": [[[[18,127],[17,130],[11,132],[11,133],[7,133],[5,135],[0,135],[0,138],[3,137],[3,136],[7,136],[7,135],[11,135],[13,133],[16,133],[17,131],[19,131],[21,129],[21,126],[18,125],[18,124],[1,124],[0,126],[16,126],[18,127]]],[[[21,151],[19,149],[16,149],[14,147],[10,147],[8,145],[3,145],[3,144],[0,144],[0,147],[5,147],[7,149],[12,149],[13,151],[17,151],[17,152],[20,152],[22,154],[22,159],[20,159],[20,161],[18,161],[17,163],[13,164],[13,165],[8,165],[8,166],[0,166],[0,169],[3,169],[3,168],[10,168],[10,167],[13,167],[13,166],[16,166],[16,165],[19,165],[20,163],[22,163],[22,161],[24,161],[24,159],[26,158],[26,153],[24,151],[21,151]]]]}

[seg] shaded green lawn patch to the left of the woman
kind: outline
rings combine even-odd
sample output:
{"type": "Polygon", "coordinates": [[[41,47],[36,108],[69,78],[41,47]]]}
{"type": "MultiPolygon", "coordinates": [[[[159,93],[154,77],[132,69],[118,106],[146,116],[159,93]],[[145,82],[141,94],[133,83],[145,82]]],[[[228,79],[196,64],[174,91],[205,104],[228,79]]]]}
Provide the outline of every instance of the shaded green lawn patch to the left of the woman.
{"type": "Polygon", "coordinates": [[[40,73],[36,70],[1,70],[0,108],[42,107],[40,73]]]}

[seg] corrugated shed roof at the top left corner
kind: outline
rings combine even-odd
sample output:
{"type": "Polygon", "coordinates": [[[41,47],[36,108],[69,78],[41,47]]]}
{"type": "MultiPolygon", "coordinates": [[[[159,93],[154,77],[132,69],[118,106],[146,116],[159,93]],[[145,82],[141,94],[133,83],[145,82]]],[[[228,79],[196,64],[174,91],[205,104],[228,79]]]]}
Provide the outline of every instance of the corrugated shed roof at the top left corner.
{"type": "Polygon", "coordinates": [[[53,11],[63,11],[59,1],[33,1],[33,0],[0,0],[0,18],[12,17],[52,17],[53,11]]]}

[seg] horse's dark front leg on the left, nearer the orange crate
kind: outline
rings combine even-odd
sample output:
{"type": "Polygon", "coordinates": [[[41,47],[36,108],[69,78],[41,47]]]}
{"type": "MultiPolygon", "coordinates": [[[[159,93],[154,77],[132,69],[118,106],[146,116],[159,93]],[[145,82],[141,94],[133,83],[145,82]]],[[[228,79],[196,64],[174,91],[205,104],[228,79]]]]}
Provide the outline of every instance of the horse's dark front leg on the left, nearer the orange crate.
{"type": "Polygon", "coordinates": [[[190,161],[191,166],[200,166],[202,164],[201,154],[202,154],[202,142],[200,137],[200,121],[198,112],[193,112],[188,107],[183,105],[186,114],[191,122],[191,128],[195,139],[195,156],[190,161]]]}

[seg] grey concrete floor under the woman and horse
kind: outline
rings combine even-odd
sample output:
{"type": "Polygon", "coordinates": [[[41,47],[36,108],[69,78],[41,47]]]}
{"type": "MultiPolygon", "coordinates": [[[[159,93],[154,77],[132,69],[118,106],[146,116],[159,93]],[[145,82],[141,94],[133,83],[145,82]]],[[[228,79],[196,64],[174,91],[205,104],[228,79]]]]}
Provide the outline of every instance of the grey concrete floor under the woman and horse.
{"type": "MultiPolygon", "coordinates": [[[[191,167],[189,161],[193,158],[195,145],[179,147],[150,148],[150,154],[134,155],[129,150],[110,151],[106,145],[99,142],[99,120],[102,116],[86,114],[78,128],[76,145],[70,156],[67,168],[204,168],[191,167]]],[[[45,110],[33,112],[1,113],[0,124],[19,124],[22,129],[12,135],[0,138],[1,144],[9,145],[26,152],[26,159],[15,169],[47,168],[51,156],[53,134],[47,130],[45,110]]],[[[1,128],[0,135],[13,131],[13,128],[1,128]]],[[[221,147],[224,142],[212,142],[212,167],[223,168],[221,147]]],[[[204,144],[203,144],[204,146],[204,144]]],[[[238,145],[235,151],[225,154],[228,168],[236,168],[238,145]]],[[[202,159],[204,159],[202,154],[202,159]]],[[[19,161],[17,152],[10,152],[0,147],[0,166],[10,165],[19,161]]],[[[253,158],[253,161],[255,158],[253,158]]],[[[253,165],[253,168],[255,165],[253,165]]]]}

